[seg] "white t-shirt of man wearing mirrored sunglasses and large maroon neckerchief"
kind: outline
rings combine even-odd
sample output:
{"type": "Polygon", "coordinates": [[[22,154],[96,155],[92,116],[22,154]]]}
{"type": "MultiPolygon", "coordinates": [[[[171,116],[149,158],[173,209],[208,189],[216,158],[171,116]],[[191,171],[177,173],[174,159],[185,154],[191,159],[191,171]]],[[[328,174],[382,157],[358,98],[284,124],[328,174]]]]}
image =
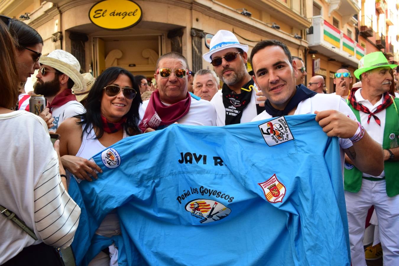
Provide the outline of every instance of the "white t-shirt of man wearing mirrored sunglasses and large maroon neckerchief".
{"type": "MultiPolygon", "coordinates": [[[[144,116],[149,101],[150,100],[145,100],[138,110],[140,121],[144,116]]],[[[170,105],[165,102],[162,102],[162,104],[166,106],[170,105]]],[[[194,97],[191,97],[190,110],[188,110],[188,113],[184,117],[180,118],[176,122],[178,122],[178,124],[189,126],[216,126],[215,107],[213,107],[213,104],[207,100],[197,100],[194,97]]]]}

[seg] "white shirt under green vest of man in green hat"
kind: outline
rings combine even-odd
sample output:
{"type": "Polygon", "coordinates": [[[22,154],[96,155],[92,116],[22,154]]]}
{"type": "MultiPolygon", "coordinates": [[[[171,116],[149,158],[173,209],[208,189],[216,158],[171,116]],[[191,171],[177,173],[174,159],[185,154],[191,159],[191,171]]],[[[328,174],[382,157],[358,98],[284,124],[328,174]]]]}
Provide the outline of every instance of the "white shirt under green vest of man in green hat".
{"type": "MultiPolygon", "coordinates": [[[[355,91],[355,99],[358,103],[361,103],[361,104],[363,104],[363,106],[369,108],[370,112],[374,112],[375,109],[377,109],[377,106],[382,104],[382,101],[383,101],[382,95],[381,95],[381,99],[379,99],[379,101],[373,105],[373,104],[371,104],[371,102],[369,102],[369,100],[365,100],[361,96],[360,91],[361,91],[361,88],[358,89],[357,91],[355,91]]],[[[384,110],[377,112],[377,114],[375,114],[379,118],[379,120],[381,120],[381,126],[379,126],[377,124],[377,122],[375,122],[375,119],[373,118],[373,116],[371,116],[371,118],[370,118],[370,123],[367,123],[369,114],[359,111],[361,125],[364,127],[364,129],[367,131],[367,133],[370,135],[370,137],[373,140],[375,140],[376,142],[378,142],[379,144],[381,144],[381,146],[382,146],[382,142],[383,142],[383,138],[384,138],[384,127],[385,127],[386,113],[387,113],[387,111],[384,109],[384,110]]],[[[381,175],[379,175],[379,176],[368,175],[367,173],[363,173],[363,176],[382,178],[385,176],[385,171],[382,171],[381,175]]]]}

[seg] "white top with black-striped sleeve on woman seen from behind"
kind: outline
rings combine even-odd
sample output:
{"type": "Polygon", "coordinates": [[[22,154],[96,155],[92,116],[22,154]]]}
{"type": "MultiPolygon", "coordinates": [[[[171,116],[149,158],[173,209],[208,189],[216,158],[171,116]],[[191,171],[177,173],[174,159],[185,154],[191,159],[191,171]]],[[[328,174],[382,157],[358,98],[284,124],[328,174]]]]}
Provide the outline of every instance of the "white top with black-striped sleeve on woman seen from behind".
{"type": "Polygon", "coordinates": [[[0,205],[16,213],[38,237],[35,241],[0,215],[0,264],[41,242],[69,246],[80,208],[61,183],[57,153],[45,122],[25,110],[0,114],[0,132],[0,205]]]}

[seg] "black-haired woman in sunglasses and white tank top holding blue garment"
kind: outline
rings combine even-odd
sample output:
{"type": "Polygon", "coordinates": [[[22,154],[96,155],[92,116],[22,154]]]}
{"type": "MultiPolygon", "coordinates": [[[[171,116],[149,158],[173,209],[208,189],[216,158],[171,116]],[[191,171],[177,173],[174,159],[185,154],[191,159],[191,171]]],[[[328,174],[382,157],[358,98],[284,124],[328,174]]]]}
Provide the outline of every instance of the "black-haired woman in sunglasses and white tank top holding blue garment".
{"type": "MultiPolygon", "coordinates": [[[[64,167],[79,179],[97,178],[93,169],[101,169],[89,159],[127,136],[140,134],[141,103],[140,91],[129,71],[120,67],[106,69],[87,96],[86,112],[65,120],[57,129],[64,167]]],[[[105,216],[96,234],[106,237],[120,234],[115,210],[105,216]]],[[[100,252],[91,265],[109,265],[109,252],[108,248],[100,252]]]]}

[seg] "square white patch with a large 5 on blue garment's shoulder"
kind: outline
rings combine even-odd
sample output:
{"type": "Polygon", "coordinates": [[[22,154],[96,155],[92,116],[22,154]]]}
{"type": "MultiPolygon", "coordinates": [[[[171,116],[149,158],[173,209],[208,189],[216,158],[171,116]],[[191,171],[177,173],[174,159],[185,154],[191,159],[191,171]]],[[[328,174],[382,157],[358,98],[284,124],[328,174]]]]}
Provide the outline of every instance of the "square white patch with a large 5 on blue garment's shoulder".
{"type": "Polygon", "coordinates": [[[260,124],[259,129],[261,130],[266,144],[269,146],[275,146],[294,139],[284,116],[260,124]]]}

